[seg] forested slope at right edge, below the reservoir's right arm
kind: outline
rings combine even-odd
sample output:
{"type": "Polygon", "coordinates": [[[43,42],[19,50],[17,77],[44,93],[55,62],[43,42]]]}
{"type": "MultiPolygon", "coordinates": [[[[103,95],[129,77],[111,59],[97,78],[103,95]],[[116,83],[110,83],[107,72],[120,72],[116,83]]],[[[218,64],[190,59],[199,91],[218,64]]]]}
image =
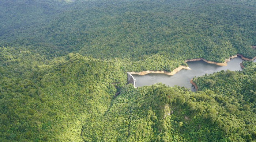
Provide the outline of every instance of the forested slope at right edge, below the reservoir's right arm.
{"type": "Polygon", "coordinates": [[[243,62],[243,65],[243,71],[220,71],[193,81],[199,90],[215,92],[211,96],[229,112],[223,115],[232,118],[225,119],[230,132],[234,133],[231,137],[251,141],[256,140],[256,63],[243,62]]]}

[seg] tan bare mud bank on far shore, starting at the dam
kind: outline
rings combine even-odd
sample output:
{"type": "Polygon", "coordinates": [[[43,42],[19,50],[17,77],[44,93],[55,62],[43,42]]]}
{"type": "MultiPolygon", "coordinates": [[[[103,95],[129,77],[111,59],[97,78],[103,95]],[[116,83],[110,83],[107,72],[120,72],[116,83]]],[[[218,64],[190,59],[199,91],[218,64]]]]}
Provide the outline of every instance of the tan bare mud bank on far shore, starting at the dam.
{"type": "Polygon", "coordinates": [[[167,72],[167,71],[142,71],[142,72],[129,72],[130,74],[138,74],[138,75],[146,75],[149,73],[157,73],[157,74],[167,74],[167,75],[174,75],[176,74],[176,72],[182,70],[182,69],[186,69],[186,70],[191,70],[191,68],[186,67],[186,66],[180,66],[175,68],[172,72],[167,72]]]}

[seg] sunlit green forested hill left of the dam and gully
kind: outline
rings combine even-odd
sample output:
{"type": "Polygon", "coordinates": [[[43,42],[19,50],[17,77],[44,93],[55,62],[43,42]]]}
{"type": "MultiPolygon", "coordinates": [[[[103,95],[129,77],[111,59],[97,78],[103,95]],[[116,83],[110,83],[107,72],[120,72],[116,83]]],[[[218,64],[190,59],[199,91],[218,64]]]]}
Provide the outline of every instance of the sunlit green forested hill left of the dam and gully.
{"type": "MultiPolygon", "coordinates": [[[[8,49],[1,48],[1,57],[15,51],[8,49]]],[[[26,52],[1,62],[0,141],[80,141],[83,121],[106,111],[125,72],[78,54],[49,62],[26,52]]]]}

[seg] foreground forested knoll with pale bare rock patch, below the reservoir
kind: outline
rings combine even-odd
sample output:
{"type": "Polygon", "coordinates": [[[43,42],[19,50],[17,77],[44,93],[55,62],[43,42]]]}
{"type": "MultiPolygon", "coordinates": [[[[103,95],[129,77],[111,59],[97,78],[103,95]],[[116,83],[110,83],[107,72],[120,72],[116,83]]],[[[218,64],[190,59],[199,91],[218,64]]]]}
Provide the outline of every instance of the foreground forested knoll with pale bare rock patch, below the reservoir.
{"type": "Polygon", "coordinates": [[[83,126],[84,141],[236,140],[228,138],[225,111],[209,94],[163,84],[125,86],[105,115],[83,126]]]}

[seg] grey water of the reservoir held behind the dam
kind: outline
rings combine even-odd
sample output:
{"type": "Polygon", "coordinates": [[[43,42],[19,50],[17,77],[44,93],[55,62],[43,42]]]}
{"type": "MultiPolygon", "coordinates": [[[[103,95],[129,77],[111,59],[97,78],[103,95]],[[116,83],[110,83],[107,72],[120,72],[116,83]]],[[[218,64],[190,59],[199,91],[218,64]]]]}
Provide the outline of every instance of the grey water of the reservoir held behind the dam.
{"type": "MultiPolygon", "coordinates": [[[[237,58],[230,59],[230,61],[227,62],[227,66],[217,66],[215,64],[206,63],[202,60],[192,61],[187,62],[188,67],[190,67],[191,70],[182,69],[174,75],[150,73],[146,75],[133,74],[133,77],[136,79],[135,87],[141,87],[145,85],[149,86],[158,82],[162,82],[166,86],[184,86],[185,88],[191,88],[191,91],[196,91],[192,84],[189,82],[191,79],[193,79],[193,77],[212,74],[221,70],[242,71],[240,66],[242,61],[243,60],[239,56],[237,58]]],[[[254,62],[255,61],[256,60],[254,60],[254,62]]]]}

